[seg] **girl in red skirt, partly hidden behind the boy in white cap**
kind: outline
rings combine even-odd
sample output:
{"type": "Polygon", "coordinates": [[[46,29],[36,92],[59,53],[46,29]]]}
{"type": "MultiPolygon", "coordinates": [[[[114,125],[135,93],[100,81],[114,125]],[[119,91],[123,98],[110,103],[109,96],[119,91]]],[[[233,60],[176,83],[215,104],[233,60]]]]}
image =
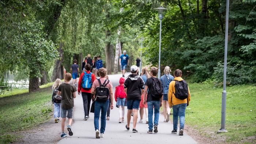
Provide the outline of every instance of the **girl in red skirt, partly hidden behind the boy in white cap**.
{"type": "MultiPolygon", "coordinates": [[[[143,82],[146,83],[147,79],[150,77],[148,73],[148,69],[144,67],[142,69],[142,73],[140,75],[143,82]]],[[[147,95],[146,95],[147,98],[147,95]]],[[[147,100],[147,99],[146,99],[147,100]]],[[[144,94],[141,95],[141,101],[140,101],[140,123],[143,123],[143,115],[144,115],[144,109],[145,109],[145,115],[146,115],[146,124],[148,124],[148,109],[147,109],[147,103],[144,104],[144,94]]]]}

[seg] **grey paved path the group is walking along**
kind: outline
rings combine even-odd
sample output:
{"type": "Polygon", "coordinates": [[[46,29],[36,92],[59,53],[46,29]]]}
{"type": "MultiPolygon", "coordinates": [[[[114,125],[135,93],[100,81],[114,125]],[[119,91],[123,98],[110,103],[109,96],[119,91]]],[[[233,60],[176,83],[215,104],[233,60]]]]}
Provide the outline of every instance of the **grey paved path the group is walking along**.
{"type": "MultiPolygon", "coordinates": [[[[125,76],[127,76],[126,74],[125,76]]],[[[119,78],[121,75],[109,75],[109,79],[113,84],[113,87],[119,84],[119,78]]],[[[94,113],[90,113],[90,118],[84,121],[83,112],[83,99],[81,95],[75,98],[75,110],[74,110],[74,124],[72,125],[73,136],[67,136],[60,140],[59,144],[165,144],[165,143],[179,143],[179,144],[195,144],[196,141],[184,133],[184,136],[178,136],[178,134],[171,134],[173,128],[172,123],[163,122],[163,115],[159,117],[158,133],[148,134],[148,125],[144,123],[137,123],[136,129],[138,133],[132,133],[132,130],[126,131],[125,125],[127,124],[126,115],[127,109],[125,109],[125,122],[118,123],[118,109],[115,107],[110,111],[110,120],[106,123],[106,130],[103,138],[95,138],[94,130],[94,113]]],[[[139,114],[139,113],[138,113],[139,114]]],[[[139,115],[138,115],[139,117],[139,115]]],[[[172,117],[171,117],[172,118],[172,117]]],[[[139,121],[139,118],[138,118],[139,121]]],[[[100,125],[100,120],[99,120],[100,125]]],[[[132,120],[131,124],[132,126],[132,120]]],[[[66,127],[65,127],[66,128],[66,127]]]]}

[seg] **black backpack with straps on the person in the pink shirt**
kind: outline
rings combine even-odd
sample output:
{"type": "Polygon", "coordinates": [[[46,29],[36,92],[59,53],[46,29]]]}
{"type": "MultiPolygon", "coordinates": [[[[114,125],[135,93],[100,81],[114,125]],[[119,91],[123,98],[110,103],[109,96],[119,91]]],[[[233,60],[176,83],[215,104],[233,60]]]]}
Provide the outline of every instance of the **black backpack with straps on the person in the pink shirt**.
{"type": "Polygon", "coordinates": [[[97,102],[106,102],[109,98],[109,88],[106,87],[106,85],[109,83],[109,80],[105,80],[103,84],[101,84],[101,80],[97,79],[99,81],[99,86],[96,87],[95,90],[95,101],[97,102]]]}

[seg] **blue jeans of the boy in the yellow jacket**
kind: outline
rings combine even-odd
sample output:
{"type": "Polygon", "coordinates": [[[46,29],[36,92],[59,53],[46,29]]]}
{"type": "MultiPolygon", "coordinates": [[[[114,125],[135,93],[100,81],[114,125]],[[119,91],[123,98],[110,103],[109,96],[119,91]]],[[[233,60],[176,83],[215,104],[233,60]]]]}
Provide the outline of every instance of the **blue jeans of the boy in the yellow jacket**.
{"type": "Polygon", "coordinates": [[[180,129],[184,129],[186,107],[187,103],[173,106],[173,129],[178,129],[178,117],[180,117],[180,129]]]}

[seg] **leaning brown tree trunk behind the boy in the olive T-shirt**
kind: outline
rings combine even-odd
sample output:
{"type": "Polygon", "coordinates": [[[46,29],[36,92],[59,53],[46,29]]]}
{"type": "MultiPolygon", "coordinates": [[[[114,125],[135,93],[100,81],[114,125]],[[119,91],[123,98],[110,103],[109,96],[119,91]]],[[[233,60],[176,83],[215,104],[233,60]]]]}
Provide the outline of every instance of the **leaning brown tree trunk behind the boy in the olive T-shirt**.
{"type": "Polygon", "coordinates": [[[61,70],[61,64],[63,62],[63,43],[60,42],[59,46],[59,59],[55,61],[53,73],[52,73],[52,82],[54,82],[56,79],[62,79],[63,78],[63,70],[61,70]]]}

